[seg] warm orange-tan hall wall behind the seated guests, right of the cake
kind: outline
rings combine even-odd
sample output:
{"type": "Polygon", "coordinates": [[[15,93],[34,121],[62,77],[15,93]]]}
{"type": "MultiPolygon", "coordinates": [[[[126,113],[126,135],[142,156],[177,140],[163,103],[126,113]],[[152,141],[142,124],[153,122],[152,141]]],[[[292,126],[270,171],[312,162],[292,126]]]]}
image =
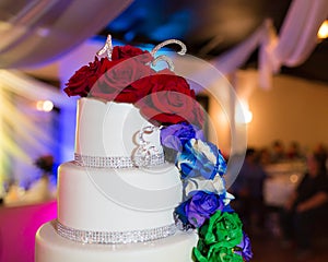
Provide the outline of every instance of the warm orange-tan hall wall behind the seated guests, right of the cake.
{"type": "MultiPolygon", "coordinates": [[[[234,88],[253,114],[246,126],[247,146],[267,147],[274,140],[288,146],[295,141],[306,153],[318,143],[328,145],[328,84],[280,74],[273,78],[271,90],[262,90],[257,86],[256,71],[246,74],[247,80],[238,78],[234,88]]],[[[212,97],[209,104],[214,129],[210,136],[229,154],[231,124],[222,117],[226,111],[212,97]]]]}

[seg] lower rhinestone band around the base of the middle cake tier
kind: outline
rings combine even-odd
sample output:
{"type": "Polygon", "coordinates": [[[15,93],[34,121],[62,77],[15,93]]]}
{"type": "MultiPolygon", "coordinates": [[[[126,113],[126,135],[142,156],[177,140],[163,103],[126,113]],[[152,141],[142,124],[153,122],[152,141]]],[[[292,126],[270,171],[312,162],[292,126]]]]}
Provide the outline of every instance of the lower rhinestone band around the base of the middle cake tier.
{"type": "Polygon", "coordinates": [[[132,242],[147,242],[161,238],[166,238],[176,233],[175,224],[144,229],[144,230],[131,230],[131,231],[92,231],[81,230],[67,227],[59,221],[54,221],[54,227],[57,233],[70,240],[82,243],[132,243],[132,242]]]}

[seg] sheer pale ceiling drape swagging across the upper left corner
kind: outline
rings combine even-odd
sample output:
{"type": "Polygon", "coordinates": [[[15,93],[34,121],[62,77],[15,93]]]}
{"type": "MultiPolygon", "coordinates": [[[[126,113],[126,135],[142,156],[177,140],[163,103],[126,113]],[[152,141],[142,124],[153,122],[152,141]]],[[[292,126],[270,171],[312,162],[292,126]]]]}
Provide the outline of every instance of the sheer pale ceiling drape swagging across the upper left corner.
{"type": "Polygon", "coordinates": [[[96,34],[132,0],[1,0],[0,68],[48,62],[96,34]]]}

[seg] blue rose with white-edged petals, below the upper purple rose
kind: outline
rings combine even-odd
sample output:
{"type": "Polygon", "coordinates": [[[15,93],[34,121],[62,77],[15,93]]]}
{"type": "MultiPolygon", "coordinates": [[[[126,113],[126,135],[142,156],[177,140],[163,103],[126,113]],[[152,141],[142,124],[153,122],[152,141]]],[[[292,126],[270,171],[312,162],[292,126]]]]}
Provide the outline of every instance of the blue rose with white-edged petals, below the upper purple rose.
{"type": "Polygon", "coordinates": [[[183,152],[177,154],[176,166],[181,178],[201,176],[213,179],[216,174],[222,176],[226,170],[226,163],[220,150],[210,142],[189,140],[183,152]]]}

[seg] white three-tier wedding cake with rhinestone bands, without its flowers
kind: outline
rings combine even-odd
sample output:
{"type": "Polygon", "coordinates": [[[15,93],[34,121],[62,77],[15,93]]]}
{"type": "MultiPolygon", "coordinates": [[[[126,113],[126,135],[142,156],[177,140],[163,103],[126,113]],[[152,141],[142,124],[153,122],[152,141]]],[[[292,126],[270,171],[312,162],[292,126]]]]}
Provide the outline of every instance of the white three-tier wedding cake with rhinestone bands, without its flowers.
{"type": "Polygon", "coordinates": [[[132,166],[150,127],[131,104],[79,100],[75,160],[59,167],[58,219],[37,234],[37,262],[191,261],[196,235],[176,234],[181,187],[157,130],[144,135],[157,148],[150,167],[132,166]]]}

